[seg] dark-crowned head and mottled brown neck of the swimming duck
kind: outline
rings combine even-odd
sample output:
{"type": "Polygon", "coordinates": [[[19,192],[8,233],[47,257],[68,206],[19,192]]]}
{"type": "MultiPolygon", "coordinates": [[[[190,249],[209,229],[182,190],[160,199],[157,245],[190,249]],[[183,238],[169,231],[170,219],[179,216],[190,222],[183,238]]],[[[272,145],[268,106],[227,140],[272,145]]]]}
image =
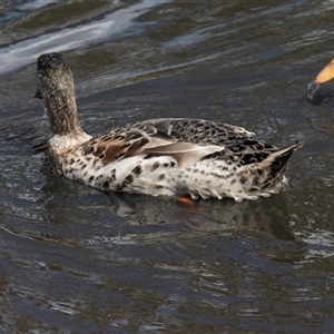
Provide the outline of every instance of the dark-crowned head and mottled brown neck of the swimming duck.
{"type": "Polygon", "coordinates": [[[38,57],[35,97],[45,99],[50,128],[55,135],[81,134],[73,77],[60,53],[38,57]]]}

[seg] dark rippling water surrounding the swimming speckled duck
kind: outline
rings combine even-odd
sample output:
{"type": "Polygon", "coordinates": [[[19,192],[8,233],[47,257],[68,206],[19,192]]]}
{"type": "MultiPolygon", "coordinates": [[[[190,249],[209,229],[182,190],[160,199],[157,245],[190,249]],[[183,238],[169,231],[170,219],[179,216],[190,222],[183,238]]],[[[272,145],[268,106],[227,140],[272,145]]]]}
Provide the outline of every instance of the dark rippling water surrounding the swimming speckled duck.
{"type": "Polygon", "coordinates": [[[0,333],[333,333],[333,1],[0,4],[0,333]],[[101,194],[53,174],[36,58],[89,134],[154,117],[305,141],[257,202],[101,194]]]}

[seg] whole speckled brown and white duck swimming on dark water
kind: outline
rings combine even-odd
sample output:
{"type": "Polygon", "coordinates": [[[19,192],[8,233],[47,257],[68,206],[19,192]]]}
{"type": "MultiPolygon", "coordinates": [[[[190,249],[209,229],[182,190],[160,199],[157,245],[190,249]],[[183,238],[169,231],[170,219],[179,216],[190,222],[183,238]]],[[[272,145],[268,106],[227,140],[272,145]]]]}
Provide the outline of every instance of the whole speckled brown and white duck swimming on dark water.
{"type": "Polygon", "coordinates": [[[36,98],[45,100],[58,174],[101,191],[255,200],[284,190],[295,141],[277,148],[243,127],[193,118],[156,118],[86,134],[73,77],[62,55],[37,59],[36,98]]]}

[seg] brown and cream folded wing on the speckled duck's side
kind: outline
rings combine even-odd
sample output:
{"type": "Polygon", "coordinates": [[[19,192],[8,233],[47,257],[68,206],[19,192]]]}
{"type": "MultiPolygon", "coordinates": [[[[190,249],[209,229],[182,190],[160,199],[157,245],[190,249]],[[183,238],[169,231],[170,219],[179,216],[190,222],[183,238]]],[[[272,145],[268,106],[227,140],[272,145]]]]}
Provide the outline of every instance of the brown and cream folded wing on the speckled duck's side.
{"type": "Polygon", "coordinates": [[[81,147],[81,155],[105,165],[135,156],[171,156],[184,167],[224,150],[224,146],[191,144],[168,132],[154,126],[143,126],[140,129],[120,128],[87,141],[81,147]]]}

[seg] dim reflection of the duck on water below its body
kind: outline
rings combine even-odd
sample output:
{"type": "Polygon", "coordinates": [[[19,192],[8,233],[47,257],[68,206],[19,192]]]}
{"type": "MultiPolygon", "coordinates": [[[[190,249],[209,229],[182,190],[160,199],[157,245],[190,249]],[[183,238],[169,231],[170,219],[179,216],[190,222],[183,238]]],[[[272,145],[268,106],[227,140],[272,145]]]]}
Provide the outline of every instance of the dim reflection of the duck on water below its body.
{"type": "MultiPolygon", "coordinates": [[[[108,196],[112,213],[122,217],[127,224],[174,225],[174,228],[157,228],[155,238],[158,230],[161,234],[168,234],[170,230],[175,233],[178,226],[179,233],[249,232],[266,234],[277,239],[294,239],[288,226],[289,215],[284,194],[243,203],[232,199],[196,200],[191,206],[168,197],[119,193],[109,193],[108,196]]],[[[149,235],[141,234],[141,237],[149,235]]]]}

